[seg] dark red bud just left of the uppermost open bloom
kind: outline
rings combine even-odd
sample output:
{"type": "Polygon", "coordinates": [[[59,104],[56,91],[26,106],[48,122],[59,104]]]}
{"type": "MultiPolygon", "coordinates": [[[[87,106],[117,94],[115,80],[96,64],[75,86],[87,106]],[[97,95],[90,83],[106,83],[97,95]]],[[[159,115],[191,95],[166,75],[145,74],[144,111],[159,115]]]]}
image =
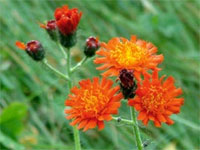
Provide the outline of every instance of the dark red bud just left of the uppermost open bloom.
{"type": "Polygon", "coordinates": [[[86,40],[84,53],[87,57],[92,57],[94,56],[95,52],[98,50],[99,47],[100,47],[99,39],[96,37],[90,36],[86,40]]]}

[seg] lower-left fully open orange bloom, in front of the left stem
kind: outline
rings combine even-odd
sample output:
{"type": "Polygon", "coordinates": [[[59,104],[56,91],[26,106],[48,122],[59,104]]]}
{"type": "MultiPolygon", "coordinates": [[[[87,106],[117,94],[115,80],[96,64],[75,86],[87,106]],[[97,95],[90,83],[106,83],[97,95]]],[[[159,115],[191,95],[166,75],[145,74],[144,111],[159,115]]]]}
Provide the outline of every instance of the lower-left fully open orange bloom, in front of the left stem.
{"type": "Polygon", "coordinates": [[[120,87],[112,87],[113,81],[103,78],[99,83],[99,78],[94,77],[93,81],[82,80],[79,82],[80,88],[76,86],[71,89],[72,94],[66,100],[65,105],[70,109],[65,110],[67,119],[74,119],[70,125],[78,125],[78,129],[83,131],[95,128],[104,128],[104,120],[112,119],[111,114],[117,114],[120,107],[122,94],[120,87]]]}

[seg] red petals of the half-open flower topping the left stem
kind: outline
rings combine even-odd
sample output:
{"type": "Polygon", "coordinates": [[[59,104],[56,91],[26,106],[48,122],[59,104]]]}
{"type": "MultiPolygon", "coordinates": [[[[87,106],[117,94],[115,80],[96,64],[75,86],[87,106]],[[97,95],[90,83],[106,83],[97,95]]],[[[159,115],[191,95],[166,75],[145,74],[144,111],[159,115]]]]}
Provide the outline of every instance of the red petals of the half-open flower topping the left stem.
{"type": "Polygon", "coordinates": [[[73,34],[79,24],[82,12],[77,8],[69,9],[67,5],[57,8],[54,12],[56,24],[63,35],[73,34]]]}

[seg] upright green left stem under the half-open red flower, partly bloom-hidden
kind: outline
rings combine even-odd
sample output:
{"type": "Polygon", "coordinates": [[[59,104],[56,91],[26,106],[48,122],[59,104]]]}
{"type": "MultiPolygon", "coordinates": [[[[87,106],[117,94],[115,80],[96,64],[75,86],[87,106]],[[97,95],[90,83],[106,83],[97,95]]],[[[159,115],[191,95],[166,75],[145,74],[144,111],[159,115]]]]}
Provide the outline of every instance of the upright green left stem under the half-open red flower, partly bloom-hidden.
{"type": "MultiPolygon", "coordinates": [[[[67,82],[68,94],[70,93],[70,89],[72,88],[72,80],[71,80],[70,70],[71,70],[71,57],[70,57],[70,49],[68,49],[67,50],[67,74],[69,77],[69,82],[67,82]]],[[[79,131],[76,126],[73,126],[73,132],[74,132],[75,150],[81,150],[79,131]]]]}

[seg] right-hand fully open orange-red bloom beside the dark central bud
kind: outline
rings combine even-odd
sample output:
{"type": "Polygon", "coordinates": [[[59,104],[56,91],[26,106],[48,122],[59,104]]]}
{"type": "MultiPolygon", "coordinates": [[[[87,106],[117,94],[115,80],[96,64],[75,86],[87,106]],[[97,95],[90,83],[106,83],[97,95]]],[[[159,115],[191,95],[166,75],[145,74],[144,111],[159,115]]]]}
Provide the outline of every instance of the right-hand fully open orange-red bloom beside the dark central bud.
{"type": "Polygon", "coordinates": [[[138,82],[135,98],[128,101],[130,106],[140,111],[138,120],[142,120],[144,125],[149,120],[154,121],[156,127],[161,127],[161,122],[173,124],[169,116],[179,113],[183,105],[184,99],[177,98],[182,90],[174,86],[174,78],[168,77],[162,81],[163,78],[164,76],[158,78],[157,70],[153,72],[151,79],[144,74],[142,84],[138,82]]]}

